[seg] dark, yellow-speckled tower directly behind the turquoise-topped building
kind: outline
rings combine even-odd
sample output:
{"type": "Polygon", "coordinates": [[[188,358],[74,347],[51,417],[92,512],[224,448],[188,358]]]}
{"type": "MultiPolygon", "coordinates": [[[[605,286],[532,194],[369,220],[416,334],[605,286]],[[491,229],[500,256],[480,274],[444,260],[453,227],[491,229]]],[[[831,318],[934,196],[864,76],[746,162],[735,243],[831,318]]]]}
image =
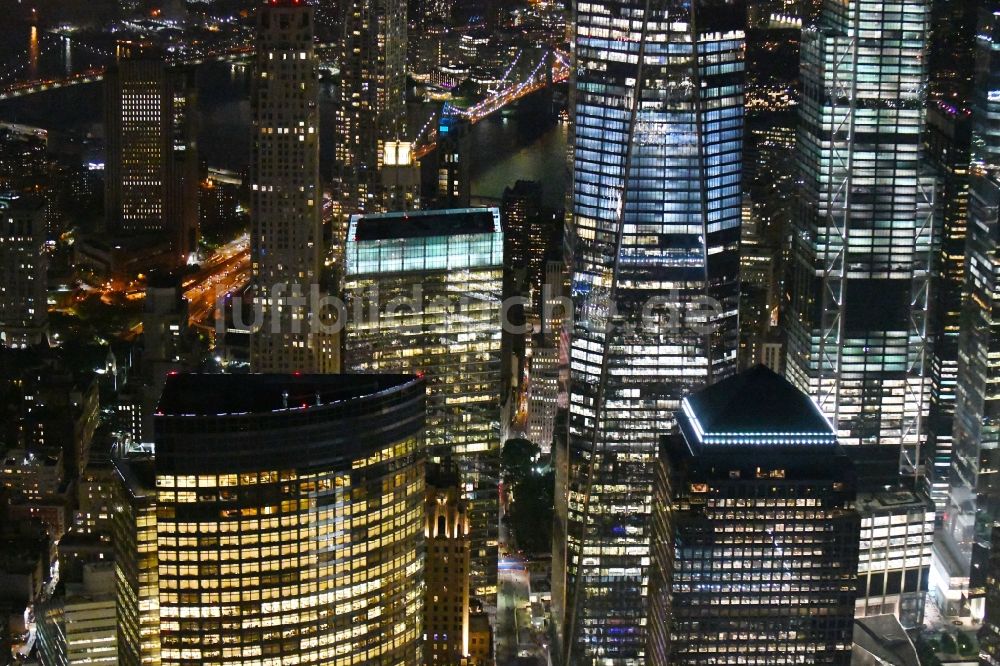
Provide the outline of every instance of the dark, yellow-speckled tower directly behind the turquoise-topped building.
{"type": "MultiPolygon", "coordinates": [[[[406,134],[405,0],[344,0],[334,197],[343,216],[413,208],[416,189],[383,174],[406,134]]],[[[339,240],[339,239],[338,239],[339,240]]]]}

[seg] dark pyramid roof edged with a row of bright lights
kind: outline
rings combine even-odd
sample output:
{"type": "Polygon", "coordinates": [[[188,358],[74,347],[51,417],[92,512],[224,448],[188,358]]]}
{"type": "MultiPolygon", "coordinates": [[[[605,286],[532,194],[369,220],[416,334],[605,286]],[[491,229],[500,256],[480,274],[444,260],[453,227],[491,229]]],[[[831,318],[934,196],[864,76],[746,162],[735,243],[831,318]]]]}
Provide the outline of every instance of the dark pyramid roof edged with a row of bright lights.
{"type": "Polygon", "coordinates": [[[763,365],[723,379],[687,400],[706,434],[834,434],[805,393],[763,365]]]}

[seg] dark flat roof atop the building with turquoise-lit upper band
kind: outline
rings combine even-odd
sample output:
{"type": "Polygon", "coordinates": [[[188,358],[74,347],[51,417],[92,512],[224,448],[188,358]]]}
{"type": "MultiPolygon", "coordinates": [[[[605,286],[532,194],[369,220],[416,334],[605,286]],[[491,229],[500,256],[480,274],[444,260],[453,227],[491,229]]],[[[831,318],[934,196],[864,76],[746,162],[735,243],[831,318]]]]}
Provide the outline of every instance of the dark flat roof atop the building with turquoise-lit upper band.
{"type": "Polygon", "coordinates": [[[489,208],[383,213],[359,217],[355,240],[488,234],[495,230],[496,218],[489,208]]]}

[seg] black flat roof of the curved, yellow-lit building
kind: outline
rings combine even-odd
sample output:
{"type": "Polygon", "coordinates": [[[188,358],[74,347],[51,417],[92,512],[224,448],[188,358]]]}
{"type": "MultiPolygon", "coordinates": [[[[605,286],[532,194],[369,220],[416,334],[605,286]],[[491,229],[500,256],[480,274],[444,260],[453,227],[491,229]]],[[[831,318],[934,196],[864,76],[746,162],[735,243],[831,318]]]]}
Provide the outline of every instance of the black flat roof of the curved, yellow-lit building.
{"type": "Polygon", "coordinates": [[[263,414],[284,408],[373,395],[417,378],[412,375],[229,375],[167,377],[157,415],[263,414]]]}

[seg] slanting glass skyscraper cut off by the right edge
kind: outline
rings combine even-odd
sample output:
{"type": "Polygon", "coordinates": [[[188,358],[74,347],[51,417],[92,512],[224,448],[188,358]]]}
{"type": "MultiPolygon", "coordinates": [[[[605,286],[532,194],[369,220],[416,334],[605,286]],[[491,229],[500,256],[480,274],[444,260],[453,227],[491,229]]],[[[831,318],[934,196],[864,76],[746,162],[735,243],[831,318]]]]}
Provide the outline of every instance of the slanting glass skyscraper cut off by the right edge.
{"type": "Polygon", "coordinates": [[[958,372],[948,506],[934,544],[931,588],[947,613],[982,618],[987,559],[1000,520],[1000,13],[981,15],[972,92],[972,168],[957,342],[958,372]]]}

